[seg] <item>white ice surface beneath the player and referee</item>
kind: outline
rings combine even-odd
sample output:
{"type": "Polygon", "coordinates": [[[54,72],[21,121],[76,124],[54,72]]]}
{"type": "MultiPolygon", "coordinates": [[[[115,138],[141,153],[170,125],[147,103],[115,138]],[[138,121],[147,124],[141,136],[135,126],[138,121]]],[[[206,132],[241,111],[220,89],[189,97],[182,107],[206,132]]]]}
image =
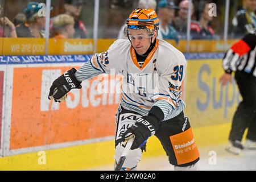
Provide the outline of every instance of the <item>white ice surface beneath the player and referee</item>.
{"type": "MultiPolygon", "coordinates": [[[[256,150],[243,150],[240,155],[233,155],[225,151],[225,144],[199,148],[201,171],[230,171],[256,170],[256,150]]],[[[142,158],[138,164],[140,171],[168,171],[174,167],[168,163],[167,156],[142,158]]],[[[90,168],[86,170],[112,171],[113,164],[90,168]]]]}

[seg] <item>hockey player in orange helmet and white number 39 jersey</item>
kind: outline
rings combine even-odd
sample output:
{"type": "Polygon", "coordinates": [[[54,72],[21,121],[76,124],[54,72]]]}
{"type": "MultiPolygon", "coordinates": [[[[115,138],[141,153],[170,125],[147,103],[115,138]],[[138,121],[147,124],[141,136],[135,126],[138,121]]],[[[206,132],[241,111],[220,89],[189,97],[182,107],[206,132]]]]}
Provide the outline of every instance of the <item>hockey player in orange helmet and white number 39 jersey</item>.
{"type": "Polygon", "coordinates": [[[114,69],[124,76],[114,166],[122,154],[123,141],[133,134],[135,140],[122,169],[136,170],[148,137],[155,135],[175,170],[197,170],[199,151],[181,99],[187,61],[171,44],[156,38],[159,19],[154,10],[136,9],[126,24],[128,39],[118,39],[79,70],[65,72],[53,82],[49,98],[63,101],[71,89],[81,88],[81,81],[114,69]]]}

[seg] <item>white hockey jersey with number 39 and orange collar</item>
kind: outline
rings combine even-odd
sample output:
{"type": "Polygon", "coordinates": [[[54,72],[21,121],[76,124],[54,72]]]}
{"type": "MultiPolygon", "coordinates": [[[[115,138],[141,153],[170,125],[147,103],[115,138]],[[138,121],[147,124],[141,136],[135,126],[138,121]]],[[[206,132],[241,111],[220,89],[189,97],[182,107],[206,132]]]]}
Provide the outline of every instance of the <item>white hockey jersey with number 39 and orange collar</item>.
{"type": "Polygon", "coordinates": [[[187,61],[183,53],[164,40],[157,39],[142,67],[129,40],[118,39],[108,51],[96,53],[75,74],[79,81],[100,73],[121,73],[121,106],[147,115],[152,106],[163,110],[164,120],[184,110],[181,83],[187,61]]]}

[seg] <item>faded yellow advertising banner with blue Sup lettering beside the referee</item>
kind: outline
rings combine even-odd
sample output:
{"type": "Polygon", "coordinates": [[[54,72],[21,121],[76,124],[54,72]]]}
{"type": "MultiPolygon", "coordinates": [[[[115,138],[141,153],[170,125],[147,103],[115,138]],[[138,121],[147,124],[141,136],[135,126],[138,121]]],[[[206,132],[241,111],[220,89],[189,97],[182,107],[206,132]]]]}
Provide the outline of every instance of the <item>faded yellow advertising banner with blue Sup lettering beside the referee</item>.
{"type": "Polygon", "coordinates": [[[193,127],[232,121],[241,97],[235,80],[221,86],[218,79],[223,73],[220,59],[188,61],[185,114],[193,127]]]}

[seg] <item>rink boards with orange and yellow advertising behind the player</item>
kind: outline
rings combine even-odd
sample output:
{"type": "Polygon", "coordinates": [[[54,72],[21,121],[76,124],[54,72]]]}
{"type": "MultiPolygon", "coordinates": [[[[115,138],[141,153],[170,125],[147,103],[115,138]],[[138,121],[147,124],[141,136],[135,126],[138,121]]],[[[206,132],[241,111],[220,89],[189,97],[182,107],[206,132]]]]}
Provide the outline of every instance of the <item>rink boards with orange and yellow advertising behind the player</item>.
{"type": "MultiPolygon", "coordinates": [[[[67,102],[55,104],[47,99],[51,82],[89,57],[80,57],[77,63],[72,61],[75,57],[68,63],[60,58],[38,61],[41,58],[7,56],[9,64],[1,60],[0,169],[84,169],[113,162],[119,94],[97,94],[100,79],[94,78],[69,94],[67,102]],[[39,151],[46,151],[46,164],[38,163],[39,151]]],[[[240,100],[234,82],[223,88],[218,84],[222,73],[220,59],[188,61],[185,114],[199,147],[226,142],[240,100]]],[[[152,155],[164,155],[155,137],[148,140],[143,156],[152,155]]]]}

